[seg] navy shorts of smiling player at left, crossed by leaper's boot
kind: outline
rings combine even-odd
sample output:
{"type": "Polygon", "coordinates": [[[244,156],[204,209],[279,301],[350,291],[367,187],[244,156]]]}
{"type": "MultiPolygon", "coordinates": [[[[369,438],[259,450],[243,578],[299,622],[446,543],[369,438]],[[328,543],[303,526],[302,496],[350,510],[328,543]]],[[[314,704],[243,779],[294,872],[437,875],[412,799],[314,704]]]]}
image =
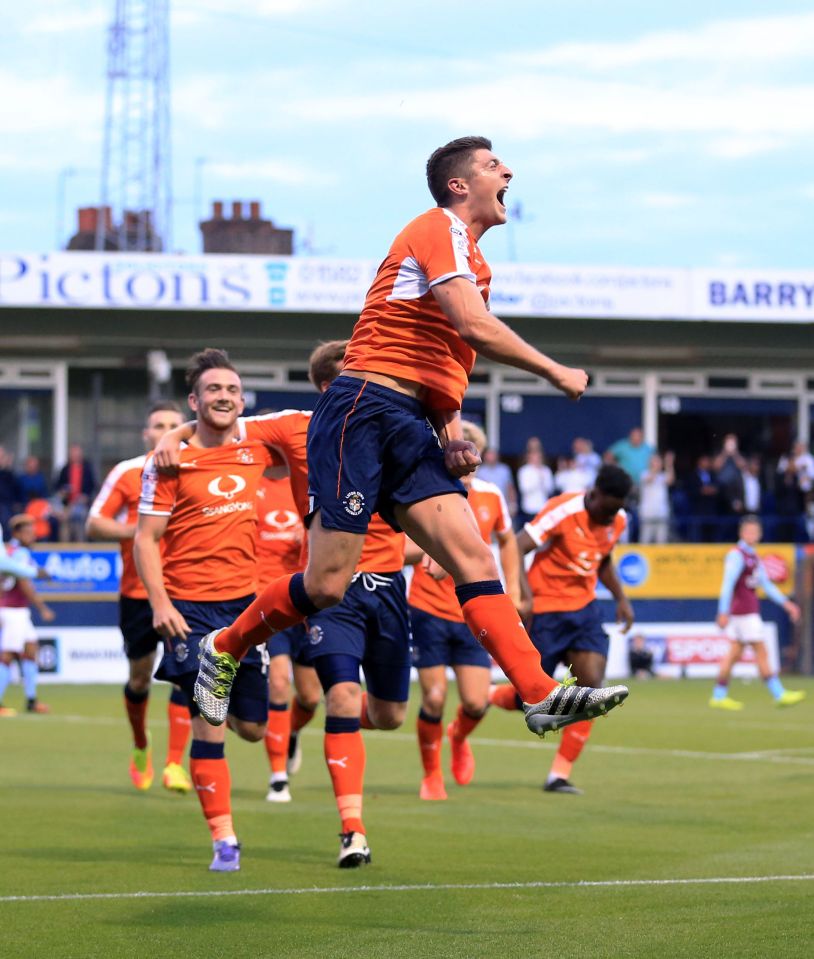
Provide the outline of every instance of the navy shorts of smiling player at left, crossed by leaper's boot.
{"type": "MultiPolygon", "coordinates": [[[[187,694],[192,716],[199,715],[192,693],[198,675],[198,647],[201,640],[213,629],[230,626],[253,599],[253,595],[214,603],[173,599],[173,606],[187,621],[192,632],[184,640],[169,641],[170,649],[165,649],[155,675],[156,679],[180,686],[187,694]]],[[[265,652],[265,647],[262,653],[253,647],[246,653],[232,686],[229,712],[245,722],[265,723],[268,719],[268,658],[265,652]]]]}

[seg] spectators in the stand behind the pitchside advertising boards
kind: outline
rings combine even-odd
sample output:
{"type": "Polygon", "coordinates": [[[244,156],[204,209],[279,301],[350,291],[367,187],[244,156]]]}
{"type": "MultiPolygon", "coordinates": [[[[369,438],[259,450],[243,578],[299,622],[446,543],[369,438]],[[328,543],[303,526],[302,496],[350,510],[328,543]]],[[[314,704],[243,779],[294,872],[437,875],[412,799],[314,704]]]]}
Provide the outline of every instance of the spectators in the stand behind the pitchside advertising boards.
{"type": "MultiPolygon", "coordinates": [[[[638,426],[602,453],[578,436],[570,450],[552,456],[531,436],[516,469],[499,450],[488,448],[479,476],[500,487],[517,528],[551,496],[587,489],[602,463],[617,463],[634,482],[627,503],[630,542],[732,542],[746,513],[761,518],[765,541],[814,541],[814,456],[805,443],[794,443],[772,461],[744,455],[730,433],[720,450],[697,457],[682,473],[676,470],[676,452],[654,449],[638,426]]],[[[15,470],[13,455],[0,447],[0,523],[6,536],[9,518],[26,512],[35,519],[40,542],[84,542],[97,491],[93,467],[78,444],[70,446],[68,462],[52,478],[36,456],[15,470]]]]}

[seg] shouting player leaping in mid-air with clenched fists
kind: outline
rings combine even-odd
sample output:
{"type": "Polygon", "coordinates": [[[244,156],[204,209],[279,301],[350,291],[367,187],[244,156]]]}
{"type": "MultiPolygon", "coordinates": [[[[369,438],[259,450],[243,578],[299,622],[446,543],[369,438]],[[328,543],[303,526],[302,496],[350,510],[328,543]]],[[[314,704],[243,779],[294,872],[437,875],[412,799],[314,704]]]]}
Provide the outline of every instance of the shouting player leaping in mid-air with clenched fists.
{"type": "Polygon", "coordinates": [[[430,157],[438,206],[394,241],[354,328],[344,375],[311,423],[308,566],[276,580],[202,644],[195,695],[208,722],[224,722],[232,677],[249,649],[342,600],[376,511],[449,570],[467,625],[519,690],[532,731],[604,713],[627,696],[623,686],[564,687],[543,672],[458,479],[480,461],[463,440],[460,416],[478,354],[574,399],[588,382],[583,370],[551,360],[489,312],[491,274],[477,242],[506,222],[511,178],[483,137],[454,140],[430,157]]]}

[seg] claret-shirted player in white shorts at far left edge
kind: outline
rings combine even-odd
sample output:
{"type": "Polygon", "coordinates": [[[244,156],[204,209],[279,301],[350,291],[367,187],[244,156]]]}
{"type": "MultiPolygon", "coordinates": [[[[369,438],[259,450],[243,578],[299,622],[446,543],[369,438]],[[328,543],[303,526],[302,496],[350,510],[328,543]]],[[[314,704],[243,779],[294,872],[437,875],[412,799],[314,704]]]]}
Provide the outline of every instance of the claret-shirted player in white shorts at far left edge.
{"type": "MultiPolygon", "coordinates": [[[[8,544],[10,558],[23,567],[33,566],[36,575],[37,567],[30,553],[30,547],[37,538],[34,517],[28,513],[18,513],[11,517],[8,525],[12,536],[8,544]]],[[[37,595],[30,576],[6,577],[0,597],[0,716],[15,715],[15,710],[3,706],[3,696],[11,678],[11,664],[15,659],[20,667],[26,712],[50,712],[45,703],[37,700],[39,643],[31,620],[32,606],[43,622],[54,621],[54,611],[37,595]]]]}

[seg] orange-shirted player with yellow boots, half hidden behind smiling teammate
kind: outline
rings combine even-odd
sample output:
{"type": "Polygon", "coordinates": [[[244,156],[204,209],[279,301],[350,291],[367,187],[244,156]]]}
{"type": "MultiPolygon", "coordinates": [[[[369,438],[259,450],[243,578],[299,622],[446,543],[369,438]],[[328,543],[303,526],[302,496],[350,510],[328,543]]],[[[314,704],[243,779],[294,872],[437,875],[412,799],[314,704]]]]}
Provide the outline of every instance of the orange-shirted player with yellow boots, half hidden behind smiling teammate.
{"type": "MultiPolygon", "coordinates": [[[[147,413],[142,430],[144,448],[150,451],[167,430],[182,421],[181,410],[172,400],[160,400],[147,413]]],[[[136,789],[149,789],[153,783],[153,755],[147,730],[147,706],[150,697],[155,653],[164,640],[153,629],[153,612],[147,590],[136,572],[133,537],[141,497],[141,471],[146,454],[122,460],[108,473],[88,513],[86,530],[90,539],[118,542],[122,554],[119,586],[119,628],[124,638],[129,675],[124,687],[124,708],[133,735],[130,779],[136,789]]],[[[167,703],[169,739],[167,761],[161,782],[165,789],[187,793],[192,789],[183,767],[184,751],[190,733],[189,704],[176,686],[167,703]]]]}

